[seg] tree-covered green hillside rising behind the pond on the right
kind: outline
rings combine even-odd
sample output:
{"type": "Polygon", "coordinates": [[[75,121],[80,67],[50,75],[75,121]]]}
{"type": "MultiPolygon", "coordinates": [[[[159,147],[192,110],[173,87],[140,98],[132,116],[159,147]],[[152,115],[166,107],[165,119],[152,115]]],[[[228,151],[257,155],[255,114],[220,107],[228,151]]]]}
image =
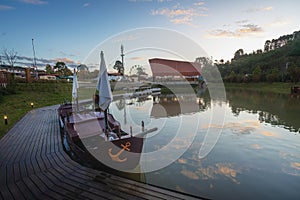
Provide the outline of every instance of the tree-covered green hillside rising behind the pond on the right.
{"type": "Polygon", "coordinates": [[[267,40],[264,51],[244,54],[239,49],[231,62],[217,64],[225,81],[299,81],[300,31],[267,40]]]}

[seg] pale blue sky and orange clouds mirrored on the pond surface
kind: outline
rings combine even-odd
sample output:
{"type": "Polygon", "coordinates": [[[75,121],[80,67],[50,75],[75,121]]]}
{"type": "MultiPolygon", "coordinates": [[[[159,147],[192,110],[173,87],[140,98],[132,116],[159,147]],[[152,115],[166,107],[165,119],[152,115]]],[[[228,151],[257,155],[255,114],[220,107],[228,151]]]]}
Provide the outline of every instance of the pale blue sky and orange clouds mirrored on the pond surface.
{"type": "Polygon", "coordinates": [[[300,196],[299,134],[280,125],[260,122],[259,113],[240,111],[238,115],[233,114],[226,103],[217,103],[226,109],[224,124],[219,119],[210,121],[210,108],[155,119],[150,118],[152,106],[151,100],[126,105],[127,124],[121,119],[124,110],[112,106],[112,112],[127,130],[130,125],[140,130],[137,119],[144,120],[146,128],[159,128],[146,140],[146,152],[163,148],[173,139],[181,122],[188,119],[184,124],[185,137],[175,138],[168,150],[186,148],[186,139],[195,131],[189,123],[200,121],[197,137],[188,151],[172,165],[146,174],[148,183],[216,199],[297,199],[300,196]],[[222,134],[210,154],[200,160],[199,149],[208,129],[212,133],[222,131],[222,134]]]}

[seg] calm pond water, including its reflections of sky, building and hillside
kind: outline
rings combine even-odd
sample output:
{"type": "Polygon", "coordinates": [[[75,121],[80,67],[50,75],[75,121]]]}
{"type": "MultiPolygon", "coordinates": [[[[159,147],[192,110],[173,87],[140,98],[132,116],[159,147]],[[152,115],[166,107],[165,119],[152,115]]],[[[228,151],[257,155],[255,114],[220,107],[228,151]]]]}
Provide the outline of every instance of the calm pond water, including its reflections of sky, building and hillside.
{"type": "Polygon", "coordinates": [[[212,199],[300,197],[299,98],[232,90],[226,101],[211,100],[207,93],[197,98],[118,100],[111,112],[127,131],[130,126],[140,131],[141,120],[146,127],[159,128],[147,138],[144,152],[161,149],[178,130],[184,132],[170,149],[188,150],[171,165],[146,173],[150,184],[212,199]],[[183,99],[184,109],[178,99],[183,99]],[[200,159],[208,130],[221,134],[212,151],[200,159]],[[189,145],[186,141],[193,133],[189,145]]]}

